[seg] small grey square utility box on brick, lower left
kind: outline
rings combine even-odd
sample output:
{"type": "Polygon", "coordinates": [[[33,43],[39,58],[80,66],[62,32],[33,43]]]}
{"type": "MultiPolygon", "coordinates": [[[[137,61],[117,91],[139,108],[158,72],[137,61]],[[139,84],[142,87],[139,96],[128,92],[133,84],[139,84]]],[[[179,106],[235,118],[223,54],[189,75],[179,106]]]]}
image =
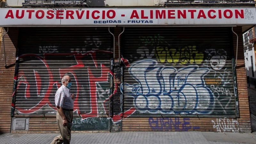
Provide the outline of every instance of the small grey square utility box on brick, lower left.
{"type": "Polygon", "coordinates": [[[28,131],[29,118],[12,118],[12,131],[28,131]]]}

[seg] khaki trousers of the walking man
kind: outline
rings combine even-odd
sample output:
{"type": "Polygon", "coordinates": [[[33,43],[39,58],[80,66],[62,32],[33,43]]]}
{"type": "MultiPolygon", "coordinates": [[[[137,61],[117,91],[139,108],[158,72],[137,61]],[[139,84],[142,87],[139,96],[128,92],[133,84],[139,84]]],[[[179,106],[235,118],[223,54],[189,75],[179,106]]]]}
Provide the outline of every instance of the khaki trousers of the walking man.
{"type": "Polygon", "coordinates": [[[73,120],[73,111],[66,111],[63,110],[64,115],[66,116],[66,119],[68,121],[67,126],[63,126],[63,120],[60,116],[60,114],[57,112],[56,114],[56,119],[57,119],[57,124],[60,130],[60,135],[55,137],[51,144],[69,144],[71,140],[71,124],[73,120]]]}

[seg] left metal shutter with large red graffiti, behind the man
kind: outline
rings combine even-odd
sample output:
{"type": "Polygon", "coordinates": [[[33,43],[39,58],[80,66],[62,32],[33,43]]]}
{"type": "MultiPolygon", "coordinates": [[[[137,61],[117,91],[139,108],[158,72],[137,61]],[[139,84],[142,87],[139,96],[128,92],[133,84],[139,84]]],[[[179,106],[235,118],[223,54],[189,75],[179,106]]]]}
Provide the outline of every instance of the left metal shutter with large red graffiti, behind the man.
{"type": "Polygon", "coordinates": [[[108,28],[21,28],[20,34],[14,116],[55,117],[55,92],[69,75],[75,94],[72,129],[108,130],[108,28]]]}

